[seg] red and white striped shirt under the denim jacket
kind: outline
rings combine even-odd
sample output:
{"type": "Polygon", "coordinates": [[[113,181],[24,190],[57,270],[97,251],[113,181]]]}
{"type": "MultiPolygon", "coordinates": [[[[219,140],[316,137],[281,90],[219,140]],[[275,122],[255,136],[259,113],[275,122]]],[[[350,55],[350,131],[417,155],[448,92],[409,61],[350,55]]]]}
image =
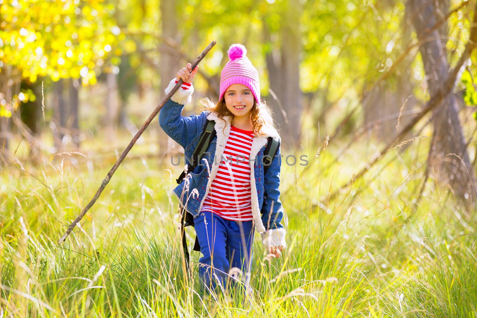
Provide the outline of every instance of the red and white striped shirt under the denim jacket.
{"type": "Polygon", "coordinates": [[[201,211],[210,211],[228,220],[253,220],[249,164],[253,137],[252,131],[230,127],[222,161],[201,211]]]}

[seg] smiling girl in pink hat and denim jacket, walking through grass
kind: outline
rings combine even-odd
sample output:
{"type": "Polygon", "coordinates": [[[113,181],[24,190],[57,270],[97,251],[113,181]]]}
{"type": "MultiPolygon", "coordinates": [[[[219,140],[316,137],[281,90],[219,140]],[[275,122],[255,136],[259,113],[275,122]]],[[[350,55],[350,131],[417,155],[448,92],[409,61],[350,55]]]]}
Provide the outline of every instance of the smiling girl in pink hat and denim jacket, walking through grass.
{"type": "Polygon", "coordinates": [[[181,116],[184,105],[191,101],[192,81],[198,70],[187,63],[169,83],[166,94],[179,79],[184,83],[159,113],[161,127],[184,147],[187,164],[206,119],[215,121],[216,136],[202,161],[173,191],[181,206],[194,216],[203,254],[199,276],[207,289],[217,285],[227,288],[230,277],[237,273],[242,274],[243,286],[249,288],[254,228],[269,256],[279,257],[285,247],[285,230],[280,223],[280,146],[265,175],[262,161],[267,138],[280,140],[280,136],[269,108],[260,101],[259,75],[246,53],[241,44],[228,49],[217,104],[206,98],[199,115],[181,116]]]}

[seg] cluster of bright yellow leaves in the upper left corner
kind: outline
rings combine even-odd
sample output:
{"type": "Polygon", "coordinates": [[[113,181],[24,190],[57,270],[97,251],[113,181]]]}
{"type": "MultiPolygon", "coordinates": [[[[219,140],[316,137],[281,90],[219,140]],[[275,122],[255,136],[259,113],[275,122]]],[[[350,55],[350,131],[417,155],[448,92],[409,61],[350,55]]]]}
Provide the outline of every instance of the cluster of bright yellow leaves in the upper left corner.
{"type": "Polygon", "coordinates": [[[83,77],[80,70],[87,65],[90,71],[83,74],[87,76],[83,83],[93,84],[92,70],[110,54],[121,54],[120,38],[111,31],[114,10],[101,0],[4,0],[0,13],[9,27],[1,24],[0,61],[31,82],[43,76],[53,81],[83,77]]]}

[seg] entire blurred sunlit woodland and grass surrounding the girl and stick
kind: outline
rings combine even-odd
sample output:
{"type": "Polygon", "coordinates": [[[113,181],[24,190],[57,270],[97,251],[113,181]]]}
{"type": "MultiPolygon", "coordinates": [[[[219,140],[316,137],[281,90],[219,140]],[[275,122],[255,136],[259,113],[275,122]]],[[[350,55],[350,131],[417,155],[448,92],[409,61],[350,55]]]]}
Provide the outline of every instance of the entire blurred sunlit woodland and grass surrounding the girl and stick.
{"type": "Polygon", "coordinates": [[[476,2],[0,0],[0,317],[477,317],[476,2]],[[157,117],[58,244],[213,40],[182,114],[242,43],[282,138],[247,310],[183,273],[157,117]]]}

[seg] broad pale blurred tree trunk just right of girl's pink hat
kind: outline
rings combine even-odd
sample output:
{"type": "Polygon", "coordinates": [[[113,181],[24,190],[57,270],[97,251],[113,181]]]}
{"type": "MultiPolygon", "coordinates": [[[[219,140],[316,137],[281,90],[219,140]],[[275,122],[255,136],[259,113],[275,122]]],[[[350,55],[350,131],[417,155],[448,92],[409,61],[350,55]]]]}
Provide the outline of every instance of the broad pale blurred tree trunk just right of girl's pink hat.
{"type": "MultiPolygon", "coordinates": [[[[270,88],[278,101],[268,98],[272,106],[275,120],[281,131],[283,148],[293,148],[301,138],[301,114],[303,111],[300,90],[300,24],[301,3],[290,1],[281,13],[281,24],[278,31],[280,49],[266,53],[265,61],[269,72],[270,88]]],[[[272,34],[264,22],[264,38],[273,45],[272,34]]]]}

